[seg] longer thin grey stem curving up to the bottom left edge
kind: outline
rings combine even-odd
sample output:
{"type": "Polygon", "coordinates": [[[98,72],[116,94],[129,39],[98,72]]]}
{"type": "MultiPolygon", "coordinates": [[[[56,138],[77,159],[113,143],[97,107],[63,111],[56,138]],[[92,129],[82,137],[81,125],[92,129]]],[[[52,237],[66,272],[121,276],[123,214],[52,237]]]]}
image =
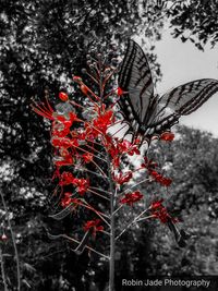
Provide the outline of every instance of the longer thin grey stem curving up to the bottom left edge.
{"type": "Polygon", "coordinates": [[[3,204],[4,211],[7,214],[7,222],[8,222],[10,232],[11,232],[11,239],[12,239],[14,253],[15,253],[17,291],[21,291],[21,269],[20,269],[20,259],[19,259],[19,252],[17,252],[17,247],[16,247],[15,237],[14,237],[14,233],[13,233],[13,230],[12,230],[11,220],[10,220],[10,217],[9,217],[9,211],[8,211],[8,208],[7,208],[7,204],[5,204],[5,201],[4,201],[4,197],[3,197],[3,194],[2,194],[1,191],[0,191],[0,195],[1,195],[1,201],[2,201],[2,204],[3,204]]]}

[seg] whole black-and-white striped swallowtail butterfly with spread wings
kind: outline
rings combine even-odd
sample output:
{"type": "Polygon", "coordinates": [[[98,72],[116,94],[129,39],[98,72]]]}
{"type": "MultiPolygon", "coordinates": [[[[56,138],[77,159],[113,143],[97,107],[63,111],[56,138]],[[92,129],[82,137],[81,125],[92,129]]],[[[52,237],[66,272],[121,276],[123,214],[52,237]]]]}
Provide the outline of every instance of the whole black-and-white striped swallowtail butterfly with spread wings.
{"type": "Polygon", "coordinates": [[[120,112],[123,122],[129,124],[125,135],[143,136],[147,142],[170,131],[181,116],[192,113],[218,92],[218,80],[202,78],[180,85],[158,98],[146,54],[132,39],[128,43],[118,85],[122,92],[120,112]]]}

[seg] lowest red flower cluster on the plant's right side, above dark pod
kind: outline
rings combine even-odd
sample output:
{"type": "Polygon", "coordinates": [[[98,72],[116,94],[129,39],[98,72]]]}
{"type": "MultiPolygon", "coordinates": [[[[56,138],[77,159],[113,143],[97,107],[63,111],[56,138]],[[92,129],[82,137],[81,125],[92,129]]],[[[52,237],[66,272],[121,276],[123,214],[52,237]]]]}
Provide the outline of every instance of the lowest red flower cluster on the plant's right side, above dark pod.
{"type": "Polygon", "coordinates": [[[162,223],[167,223],[169,221],[177,222],[175,218],[172,218],[167,208],[162,205],[164,199],[153,202],[149,209],[155,218],[158,218],[162,223]]]}

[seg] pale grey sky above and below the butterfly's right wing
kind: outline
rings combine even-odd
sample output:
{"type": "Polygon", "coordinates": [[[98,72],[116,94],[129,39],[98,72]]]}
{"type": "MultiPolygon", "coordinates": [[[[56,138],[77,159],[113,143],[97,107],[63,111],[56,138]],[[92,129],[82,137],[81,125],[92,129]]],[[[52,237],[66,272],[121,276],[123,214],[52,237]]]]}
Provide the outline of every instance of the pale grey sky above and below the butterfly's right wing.
{"type": "MultiPolygon", "coordinates": [[[[197,78],[218,80],[218,46],[199,51],[191,41],[182,43],[165,28],[162,39],[156,43],[158,62],[162,80],[157,84],[157,93],[164,94],[183,83],[197,78]]],[[[218,93],[210,97],[199,109],[180,119],[181,124],[211,132],[218,137],[218,93]]]]}

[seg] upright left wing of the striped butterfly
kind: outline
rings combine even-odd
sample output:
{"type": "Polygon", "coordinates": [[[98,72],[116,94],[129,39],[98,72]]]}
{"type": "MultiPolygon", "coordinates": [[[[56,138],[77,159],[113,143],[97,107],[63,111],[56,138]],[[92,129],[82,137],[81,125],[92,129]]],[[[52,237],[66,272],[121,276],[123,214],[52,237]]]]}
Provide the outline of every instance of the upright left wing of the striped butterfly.
{"type": "Polygon", "coordinates": [[[142,132],[156,110],[154,84],[148,61],[142,48],[129,40],[118,78],[119,87],[125,92],[120,98],[121,113],[130,131],[142,132]]]}

